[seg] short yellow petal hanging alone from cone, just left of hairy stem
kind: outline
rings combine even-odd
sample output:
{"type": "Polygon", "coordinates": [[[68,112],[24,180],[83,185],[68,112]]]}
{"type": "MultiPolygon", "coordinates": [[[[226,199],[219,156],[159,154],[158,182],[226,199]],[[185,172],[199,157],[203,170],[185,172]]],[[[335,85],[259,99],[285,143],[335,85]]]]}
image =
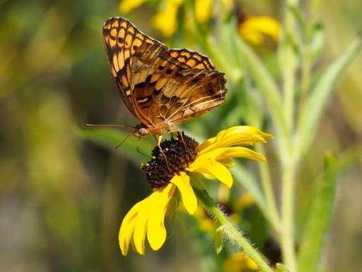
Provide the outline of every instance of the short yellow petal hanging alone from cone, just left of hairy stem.
{"type": "Polygon", "coordinates": [[[185,172],[180,172],[180,176],[176,175],[170,180],[170,183],[175,184],[181,193],[182,203],[192,215],[197,208],[197,198],[192,190],[192,186],[189,183],[189,176],[185,172]]]}

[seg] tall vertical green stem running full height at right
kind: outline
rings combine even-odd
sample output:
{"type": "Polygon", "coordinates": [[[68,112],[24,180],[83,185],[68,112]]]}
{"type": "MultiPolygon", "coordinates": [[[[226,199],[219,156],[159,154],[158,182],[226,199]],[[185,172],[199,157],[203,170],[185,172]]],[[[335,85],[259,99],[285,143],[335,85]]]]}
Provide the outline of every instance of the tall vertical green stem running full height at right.
{"type": "Polygon", "coordinates": [[[286,0],[284,24],[284,118],[286,120],[287,152],[282,158],[282,192],[281,192],[281,251],[283,261],[291,272],[296,272],[296,251],[294,239],[294,198],[296,183],[296,166],[293,157],[294,98],[296,94],[297,60],[294,45],[298,40],[298,31],[292,8],[298,6],[298,0],[286,0]]]}

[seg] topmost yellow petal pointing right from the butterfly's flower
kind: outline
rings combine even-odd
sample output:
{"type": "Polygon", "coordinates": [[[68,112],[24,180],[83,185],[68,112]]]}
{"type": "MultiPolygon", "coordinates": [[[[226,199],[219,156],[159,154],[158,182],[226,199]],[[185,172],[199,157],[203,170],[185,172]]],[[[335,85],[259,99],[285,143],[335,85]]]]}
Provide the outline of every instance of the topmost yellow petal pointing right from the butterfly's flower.
{"type": "Polygon", "coordinates": [[[252,145],[255,142],[266,142],[266,138],[272,138],[272,135],[264,133],[257,128],[247,125],[239,125],[218,132],[216,137],[206,140],[200,145],[200,154],[209,152],[218,147],[230,147],[233,145],[252,145]]]}

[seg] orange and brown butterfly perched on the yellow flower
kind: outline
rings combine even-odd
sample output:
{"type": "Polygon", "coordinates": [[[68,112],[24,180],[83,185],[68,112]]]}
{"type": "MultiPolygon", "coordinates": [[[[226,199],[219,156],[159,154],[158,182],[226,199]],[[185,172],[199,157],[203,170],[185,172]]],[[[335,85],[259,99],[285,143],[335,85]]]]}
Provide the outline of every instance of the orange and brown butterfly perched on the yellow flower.
{"type": "Polygon", "coordinates": [[[105,22],[103,42],[119,94],[141,122],[138,137],[172,132],[225,99],[224,74],[198,52],[168,49],[120,17],[105,22]]]}

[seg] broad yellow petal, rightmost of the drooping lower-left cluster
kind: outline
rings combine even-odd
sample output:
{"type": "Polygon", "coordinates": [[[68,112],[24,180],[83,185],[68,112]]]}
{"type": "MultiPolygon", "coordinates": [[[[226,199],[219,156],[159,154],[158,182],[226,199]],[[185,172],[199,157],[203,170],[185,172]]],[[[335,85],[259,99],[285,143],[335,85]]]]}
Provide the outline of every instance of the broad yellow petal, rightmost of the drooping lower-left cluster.
{"type": "Polygon", "coordinates": [[[147,225],[147,239],[153,250],[158,250],[163,245],[166,239],[165,229],[165,213],[170,203],[175,186],[169,183],[164,188],[160,188],[160,195],[158,201],[155,201],[150,207],[152,215],[148,217],[147,225]]]}

